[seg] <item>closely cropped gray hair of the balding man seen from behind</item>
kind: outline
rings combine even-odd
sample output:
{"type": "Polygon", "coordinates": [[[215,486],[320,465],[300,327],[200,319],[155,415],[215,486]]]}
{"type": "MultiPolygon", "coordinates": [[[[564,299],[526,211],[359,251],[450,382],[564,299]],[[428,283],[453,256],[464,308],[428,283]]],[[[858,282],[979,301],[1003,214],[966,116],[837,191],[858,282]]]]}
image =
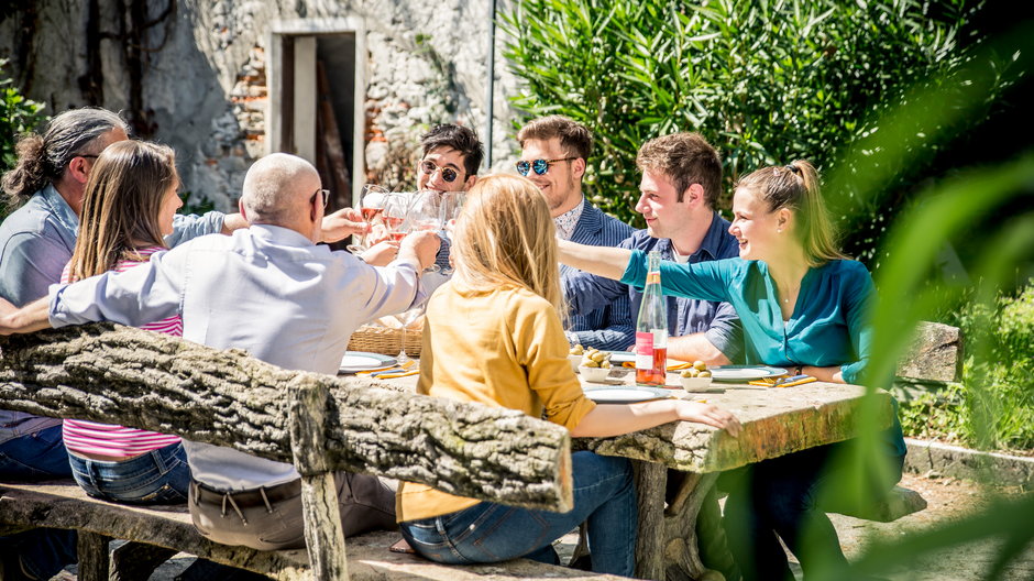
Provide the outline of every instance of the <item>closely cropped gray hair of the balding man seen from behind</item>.
{"type": "Polygon", "coordinates": [[[305,174],[318,175],[312,164],[287,153],[273,153],[252,164],[241,196],[249,221],[286,224],[293,220],[292,195],[305,174]]]}

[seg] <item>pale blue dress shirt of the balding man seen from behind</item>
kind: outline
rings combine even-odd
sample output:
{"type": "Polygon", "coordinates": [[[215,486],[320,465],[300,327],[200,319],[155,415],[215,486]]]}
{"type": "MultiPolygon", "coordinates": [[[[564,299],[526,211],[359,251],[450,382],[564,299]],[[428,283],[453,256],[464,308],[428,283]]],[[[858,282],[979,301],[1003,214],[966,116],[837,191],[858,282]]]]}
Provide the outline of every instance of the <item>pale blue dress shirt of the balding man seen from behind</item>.
{"type": "MultiPolygon", "coordinates": [[[[419,266],[370,266],[267,224],[201,237],[124,273],[51,287],[54,327],[111,320],[139,327],[175,314],[183,337],[237,348],[288,370],[336,374],[360,325],[424,300],[419,266]]],[[[217,490],[298,478],[287,463],[184,440],[194,478],[217,490]]]]}

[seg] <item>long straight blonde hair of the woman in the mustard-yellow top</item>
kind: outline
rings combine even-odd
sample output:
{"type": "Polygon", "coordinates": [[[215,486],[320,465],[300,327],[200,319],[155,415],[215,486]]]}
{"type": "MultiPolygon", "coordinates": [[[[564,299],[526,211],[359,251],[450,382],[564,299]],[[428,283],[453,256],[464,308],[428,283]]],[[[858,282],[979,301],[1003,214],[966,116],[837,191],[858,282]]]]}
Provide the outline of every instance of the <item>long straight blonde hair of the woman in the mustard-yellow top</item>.
{"type": "Polygon", "coordinates": [[[479,179],[457,219],[457,277],[477,290],[522,286],[563,318],[556,235],[546,198],[531,180],[512,175],[479,179]]]}

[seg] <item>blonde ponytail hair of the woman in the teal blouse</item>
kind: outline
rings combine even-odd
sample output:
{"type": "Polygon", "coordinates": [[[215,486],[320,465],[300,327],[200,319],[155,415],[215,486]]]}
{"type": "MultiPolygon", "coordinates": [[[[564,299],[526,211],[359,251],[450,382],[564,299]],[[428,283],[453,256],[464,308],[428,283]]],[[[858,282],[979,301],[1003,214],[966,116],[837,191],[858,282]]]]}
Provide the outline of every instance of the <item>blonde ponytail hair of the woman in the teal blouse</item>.
{"type": "Polygon", "coordinates": [[[837,248],[836,229],[818,187],[818,172],[811,163],[798,160],[785,166],[762,167],[740,179],[736,188],[757,191],[770,212],[781,208],[793,212],[793,231],[809,266],[847,259],[837,248]]]}

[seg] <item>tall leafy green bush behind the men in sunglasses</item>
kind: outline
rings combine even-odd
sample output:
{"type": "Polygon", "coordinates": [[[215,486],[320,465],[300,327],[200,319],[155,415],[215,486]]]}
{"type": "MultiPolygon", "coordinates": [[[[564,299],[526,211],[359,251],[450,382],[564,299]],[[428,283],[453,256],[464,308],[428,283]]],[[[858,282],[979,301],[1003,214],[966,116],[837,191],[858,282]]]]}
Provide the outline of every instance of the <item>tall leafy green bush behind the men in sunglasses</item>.
{"type": "MultiPolygon", "coordinates": [[[[870,138],[886,131],[879,121],[917,79],[931,79],[942,98],[967,83],[960,70],[971,56],[958,39],[974,4],[521,0],[502,26],[510,35],[506,56],[527,84],[517,107],[588,125],[597,146],[586,194],[638,223],[636,152],[659,135],[702,133],[722,153],[729,187],[744,173],[794,158],[832,173],[836,163],[871,156],[870,138]]],[[[1001,73],[1008,63],[993,66],[1001,73]]],[[[953,131],[983,119],[1004,83],[954,119],[953,131]]],[[[913,147],[922,155],[899,167],[879,196],[862,201],[850,180],[839,185],[856,194],[837,208],[848,252],[875,255],[889,208],[900,206],[939,144],[921,135],[913,147]]]]}

